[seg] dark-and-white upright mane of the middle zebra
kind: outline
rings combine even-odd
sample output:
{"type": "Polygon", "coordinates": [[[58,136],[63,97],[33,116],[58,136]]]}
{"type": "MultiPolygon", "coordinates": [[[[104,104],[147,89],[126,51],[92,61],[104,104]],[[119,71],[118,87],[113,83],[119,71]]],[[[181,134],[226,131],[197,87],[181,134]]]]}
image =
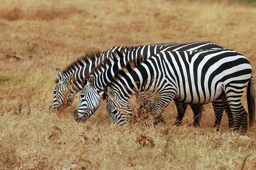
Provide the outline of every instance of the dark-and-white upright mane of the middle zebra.
{"type": "MultiPolygon", "coordinates": [[[[86,84],[87,84],[87,79],[90,77],[90,75],[93,75],[95,74],[96,72],[99,71],[99,69],[107,69],[107,66],[111,66],[113,63],[117,63],[119,62],[119,60],[123,57],[125,57],[126,54],[128,54],[129,52],[133,51],[133,47],[131,47],[131,49],[129,48],[126,48],[126,52],[125,52],[125,48],[124,47],[121,47],[120,48],[120,52],[118,49],[115,49],[113,52],[111,52],[111,54],[108,55],[108,58],[105,58],[104,59],[104,62],[102,63],[99,63],[98,65],[96,65],[92,70],[91,72],[87,73],[85,76],[84,76],[84,79],[81,83],[81,86],[84,87],[86,84]]],[[[124,67],[124,66],[122,66],[124,67]]]]}

